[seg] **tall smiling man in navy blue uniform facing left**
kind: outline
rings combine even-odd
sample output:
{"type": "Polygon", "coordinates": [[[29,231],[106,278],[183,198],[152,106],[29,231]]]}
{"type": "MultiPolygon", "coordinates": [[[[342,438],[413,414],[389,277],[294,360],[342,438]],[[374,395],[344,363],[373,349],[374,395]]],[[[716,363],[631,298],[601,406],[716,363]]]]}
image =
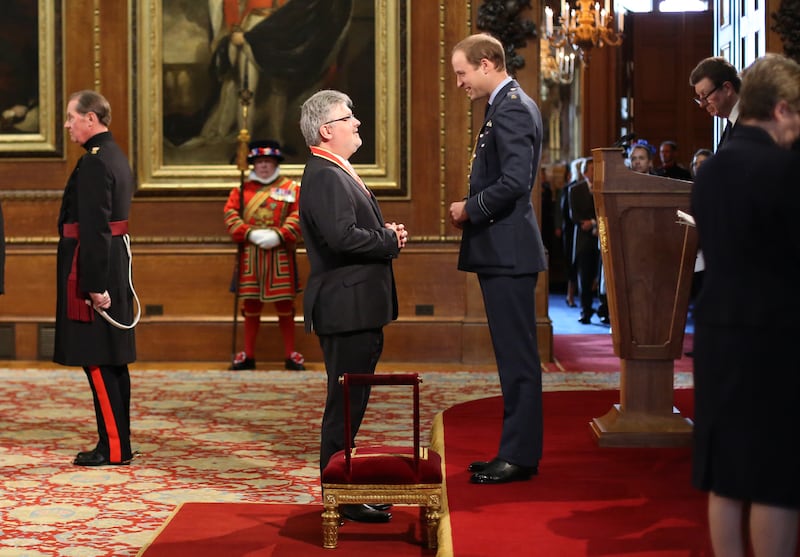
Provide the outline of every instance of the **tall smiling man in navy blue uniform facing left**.
{"type": "Polygon", "coordinates": [[[508,75],[503,45],[494,37],[467,37],[453,49],[451,62],[469,98],[489,102],[475,144],[469,196],[450,205],[450,220],[463,231],[458,268],[478,275],[504,406],[497,456],[472,463],[471,481],[527,480],[538,472],[542,456],[535,290],[547,262],[531,204],[542,119],[536,103],[508,75]]]}

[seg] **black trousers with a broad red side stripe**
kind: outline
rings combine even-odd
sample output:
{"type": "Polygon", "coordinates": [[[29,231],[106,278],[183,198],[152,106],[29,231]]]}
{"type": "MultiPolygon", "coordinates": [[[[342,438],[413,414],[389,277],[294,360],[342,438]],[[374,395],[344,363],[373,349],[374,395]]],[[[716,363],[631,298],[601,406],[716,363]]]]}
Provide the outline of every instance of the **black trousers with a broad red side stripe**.
{"type": "Polygon", "coordinates": [[[133,458],[131,452],[131,377],[128,366],[84,367],[94,397],[96,450],[110,462],[133,458]]]}

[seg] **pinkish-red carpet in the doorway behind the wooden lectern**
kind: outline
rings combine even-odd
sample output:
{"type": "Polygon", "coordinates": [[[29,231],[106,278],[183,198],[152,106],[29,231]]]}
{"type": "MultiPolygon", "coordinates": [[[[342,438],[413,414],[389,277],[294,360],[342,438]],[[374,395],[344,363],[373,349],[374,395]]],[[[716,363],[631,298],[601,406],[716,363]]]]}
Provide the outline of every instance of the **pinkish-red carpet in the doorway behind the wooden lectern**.
{"type": "MultiPolygon", "coordinates": [[[[684,352],[693,346],[693,335],[684,337],[684,352]]],[[[546,364],[548,371],[619,371],[619,358],[614,355],[610,334],[554,335],[555,362],[546,364]]],[[[675,371],[692,371],[692,359],[682,355],[675,360],[675,371]]]]}

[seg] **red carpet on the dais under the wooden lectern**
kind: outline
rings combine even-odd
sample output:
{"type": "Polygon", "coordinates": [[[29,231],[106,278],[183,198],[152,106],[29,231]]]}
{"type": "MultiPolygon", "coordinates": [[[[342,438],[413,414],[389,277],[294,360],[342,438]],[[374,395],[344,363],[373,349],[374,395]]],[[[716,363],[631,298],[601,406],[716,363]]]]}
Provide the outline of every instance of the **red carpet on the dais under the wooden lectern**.
{"type": "MultiPolygon", "coordinates": [[[[676,391],[691,417],[692,391],[676,391]]],[[[588,423],[616,391],[544,395],[545,453],[529,482],[469,483],[467,465],[491,458],[499,397],[444,412],[447,497],[455,557],[711,555],[705,494],[690,486],[687,449],[601,449],[588,423]]]]}

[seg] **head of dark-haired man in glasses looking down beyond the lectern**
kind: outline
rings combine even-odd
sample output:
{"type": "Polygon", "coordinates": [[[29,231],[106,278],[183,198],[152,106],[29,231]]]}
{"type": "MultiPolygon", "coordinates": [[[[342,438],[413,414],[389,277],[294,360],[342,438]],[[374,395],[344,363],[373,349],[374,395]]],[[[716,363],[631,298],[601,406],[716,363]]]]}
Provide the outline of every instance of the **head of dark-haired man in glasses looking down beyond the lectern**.
{"type": "Polygon", "coordinates": [[[689,86],[697,95],[694,102],[711,116],[725,120],[725,127],[717,149],[728,140],[739,118],[739,72],[722,56],[712,56],[700,61],[689,75],[689,86]]]}

